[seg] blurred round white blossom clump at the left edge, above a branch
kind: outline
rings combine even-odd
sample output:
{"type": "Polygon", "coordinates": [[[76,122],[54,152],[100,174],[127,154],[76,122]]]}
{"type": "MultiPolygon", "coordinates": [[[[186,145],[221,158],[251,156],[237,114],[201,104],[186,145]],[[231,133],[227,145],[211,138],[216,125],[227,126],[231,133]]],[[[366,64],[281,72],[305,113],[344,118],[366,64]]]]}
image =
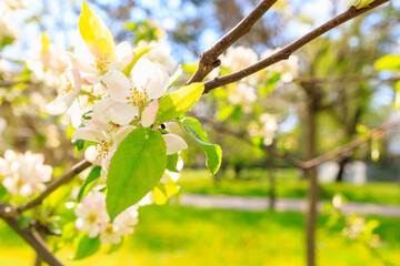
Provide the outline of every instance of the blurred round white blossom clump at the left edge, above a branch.
{"type": "Polygon", "coordinates": [[[52,174],[52,167],[43,162],[43,154],[6,151],[4,157],[0,157],[2,185],[13,195],[30,196],[42,192],[46,188],[43,183],[49,182],[52,174]]]}

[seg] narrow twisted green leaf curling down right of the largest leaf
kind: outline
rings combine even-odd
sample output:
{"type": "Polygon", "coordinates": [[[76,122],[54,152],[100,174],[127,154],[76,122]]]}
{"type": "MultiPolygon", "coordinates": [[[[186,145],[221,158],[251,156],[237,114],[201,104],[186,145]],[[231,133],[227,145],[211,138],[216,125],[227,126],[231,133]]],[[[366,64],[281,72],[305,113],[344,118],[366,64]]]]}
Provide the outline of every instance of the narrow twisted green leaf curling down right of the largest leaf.
{"type": "Polygon", "coordinates": [[[210,170],[211,174],[217,174],[219,167],[221,166],[222,161],[222,150],[217,144],[210,144],[206,131],[203,131],[199,121],[192,117],[187,117],[182,120],[184,129],[194,137],[197,142],[200,143],[201,147],[204,150],[207,156],[207,167],[210,170]]]}

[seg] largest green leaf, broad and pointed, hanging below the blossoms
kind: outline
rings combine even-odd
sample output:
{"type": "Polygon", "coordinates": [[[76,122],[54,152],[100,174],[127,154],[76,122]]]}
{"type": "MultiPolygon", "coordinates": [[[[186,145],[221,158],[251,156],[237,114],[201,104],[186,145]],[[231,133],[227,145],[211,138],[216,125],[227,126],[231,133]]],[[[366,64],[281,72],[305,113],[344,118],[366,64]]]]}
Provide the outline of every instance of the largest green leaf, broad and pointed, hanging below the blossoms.
{"type": "Polygon", "coordinates": [[[156,186],[164,172],[166,160],[167,147],[160,132],[139,127],[121,142],[107,177],[106,203],[111,221],[156,186]]]}

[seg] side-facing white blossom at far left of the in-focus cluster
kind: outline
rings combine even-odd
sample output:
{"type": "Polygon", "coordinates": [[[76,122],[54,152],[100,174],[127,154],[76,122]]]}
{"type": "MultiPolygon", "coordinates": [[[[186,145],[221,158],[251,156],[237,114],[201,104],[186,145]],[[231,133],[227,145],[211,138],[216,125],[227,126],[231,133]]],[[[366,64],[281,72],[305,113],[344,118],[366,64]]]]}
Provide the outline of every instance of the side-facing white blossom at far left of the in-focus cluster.
{"type": "Polygon", "coordinates": [[[59,95],[44,106],[44,110],[52,115],[64,113],[76,101],[81,88],[79,71],[72,69],[66,72],[59,85],[59,95]]]}

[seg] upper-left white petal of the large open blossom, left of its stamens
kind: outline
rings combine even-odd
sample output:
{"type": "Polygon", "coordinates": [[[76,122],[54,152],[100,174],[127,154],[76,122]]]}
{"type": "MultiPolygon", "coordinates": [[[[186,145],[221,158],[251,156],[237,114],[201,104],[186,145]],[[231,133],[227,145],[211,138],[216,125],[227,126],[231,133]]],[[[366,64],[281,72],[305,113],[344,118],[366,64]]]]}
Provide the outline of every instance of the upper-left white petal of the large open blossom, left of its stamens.
{"type": "Polygon", "coordinates": [[[103,82],[113,100],[119,102],[129,101],[127,98],[131,95],[131,83],[122,72],[117,70],[108,72],[103,78],[103,82]]]}

